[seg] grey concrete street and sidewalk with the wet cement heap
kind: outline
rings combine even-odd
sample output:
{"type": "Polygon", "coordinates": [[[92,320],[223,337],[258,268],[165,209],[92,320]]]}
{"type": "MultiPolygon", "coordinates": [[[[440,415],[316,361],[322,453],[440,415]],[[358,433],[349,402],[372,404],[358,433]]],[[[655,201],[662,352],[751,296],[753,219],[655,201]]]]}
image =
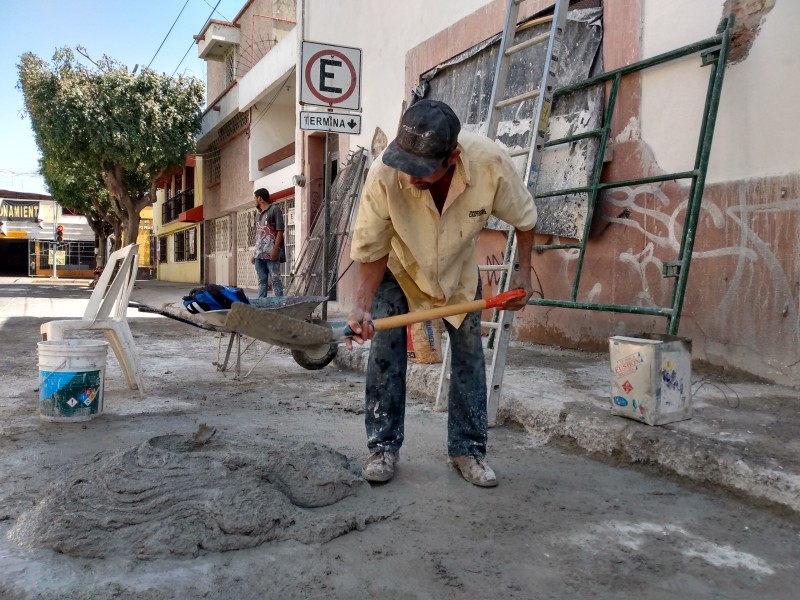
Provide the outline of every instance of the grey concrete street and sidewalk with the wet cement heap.
{"type": "MultiPolygon", "coordinates": [[[[157,304],[191,286],[137,287],[157,304]]],[[[796,597],[793,390],[696,374],[695,416],[649,427],[609,414],[607,355],[514,344],[490,432],[500,485],[484,490],[446,467],[439,369],[412,365],[398,474],[368,486],[352,479],[363,349],[306,371],[256,342],[252,374],[235,379],[212,365],[226,337],[131,309],[146,395],[110,357],[102,415],[41,421],[39,325],[79,316],[88,295],[85,282],[0,279],[0,598],[796,597]],[[176,451],[203,423],[214,437],[176,451]],[[309,447],[330,448],[353,493],[253,512],[251,485],[279,498],[269,486],[285,474],[264,462],[276,445],[301,471],[309,447]],[[247,473],[256,482],[237,487],[247,473]],[[265,541],[274,523],[288,537],[265,541]],[[198,524],[210,533],[193,546],[198,524]]]]}

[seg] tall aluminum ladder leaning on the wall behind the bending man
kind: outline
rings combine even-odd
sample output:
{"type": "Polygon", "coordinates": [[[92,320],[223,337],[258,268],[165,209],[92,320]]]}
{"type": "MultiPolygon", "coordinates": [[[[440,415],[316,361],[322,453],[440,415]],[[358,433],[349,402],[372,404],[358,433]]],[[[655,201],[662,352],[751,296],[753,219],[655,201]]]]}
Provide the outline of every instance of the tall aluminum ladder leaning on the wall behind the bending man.
{"type": "MultiPolygon", "coordinates": [[[[489,116],[485,124],[484,134],[492,140],[496,139],[501,111],[504,108],[521,105],[528,100],[536,102],[536,108],[531,120],[532,132],[528,140],[528,146],[510,152],[512,157],[527,155],[526,167],[522,177],[531,196],[534,196],[539,174],[539,165],[541,164],[545,147],[545,135],[550,119],[550,107],[553,103],[555,74],[561,57],[563,46],[562,38],[567,23],[569,0],[556,0],[551,16],[535,19],[522,25],[523,28],[527,29],[535,25],[550,22],[549,33],[543,33],[524,42],[516,43],[515,37],[518,31],[517,20],[519,17],[519,8],[523,2],[525,2],[525,0],[509,0],[506,8],[505,25],[500,40],[491,101],[489,103],[491,108],[489,109],[489,116]],[[512,56],[531,46],[544,42],[547,42],[547,53],[545,55],[544,69],[539,87],[506,98],[505,90],[512,56]]],[[[512,272],[515,269],[519,269],[517,243],[513,229],[509,231],[503,262],[499,265],[480,265],[478,268],[481,272],[500,271],[498,291],[504,292],[508,289],[508,282],[511,279],[512,272]]],[[[495,310],[491,321],[481,322],[483,327],[492,329],[489,336],[489,347],[493,349],[492,364],[490,373],[487,376],[487,412],[489,426],[495,425],[497,420],[497,410],[500,405],[500,394],[503,386],[503,375],[505,372],[513,320],[513,311],[495,310]]],[[[450,391],[449,343],[443,355],[442,371],[439,376],[439,389],[434,410],[445,410],[447,406],[447,397],[450,391]]]]}

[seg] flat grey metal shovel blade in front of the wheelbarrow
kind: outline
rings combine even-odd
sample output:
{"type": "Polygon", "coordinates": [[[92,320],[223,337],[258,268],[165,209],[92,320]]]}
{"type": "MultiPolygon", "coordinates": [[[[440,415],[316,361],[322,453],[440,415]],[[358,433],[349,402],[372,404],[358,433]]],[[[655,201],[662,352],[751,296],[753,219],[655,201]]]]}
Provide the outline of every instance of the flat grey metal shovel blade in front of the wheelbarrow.
{"type": "Polygon", "coordinates": [[[331,328],[236,302],[225,319],[225,328],[290,350],[310,350],[333,342],[331,328]]]}

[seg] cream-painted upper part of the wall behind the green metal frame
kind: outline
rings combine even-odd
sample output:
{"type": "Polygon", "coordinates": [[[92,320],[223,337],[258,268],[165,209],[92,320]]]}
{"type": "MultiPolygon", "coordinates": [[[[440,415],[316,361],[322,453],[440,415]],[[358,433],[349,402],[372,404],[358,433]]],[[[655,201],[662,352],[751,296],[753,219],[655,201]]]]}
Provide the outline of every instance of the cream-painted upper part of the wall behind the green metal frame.
{"type": "MultiPolygon", "coordinates": [[[[753,37],[725,74],[709,183],[798,170],[794,128],[786,125],[796,118],[800,94],[800,3],[777,0],[769,10],[770,4],[731,4],[755,11],[737,16],[737,29],[753,37]]],[[[721,1],[644,0],[642,6],[643,58],[713,35],[726,10],[721,1]]],[[[642,77],[641,136],[665,171],[694,160],[707,70],[693,57],[642,77]]]]}

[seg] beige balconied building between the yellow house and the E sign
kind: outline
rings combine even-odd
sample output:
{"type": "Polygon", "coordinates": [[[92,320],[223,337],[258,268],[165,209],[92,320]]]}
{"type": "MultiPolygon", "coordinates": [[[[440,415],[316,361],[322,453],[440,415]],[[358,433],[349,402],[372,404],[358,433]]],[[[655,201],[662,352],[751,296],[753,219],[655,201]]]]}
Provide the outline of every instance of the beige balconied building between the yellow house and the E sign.
{"type": "Polygon", "coordinates": [[[286,215],[286,270],[294,250],[295,3],[246,2],[230,22],[196,36],[208,64],[203,158],[204,265],[209,283],[257,287],[253,192],[267,188],[286,215]]]}

